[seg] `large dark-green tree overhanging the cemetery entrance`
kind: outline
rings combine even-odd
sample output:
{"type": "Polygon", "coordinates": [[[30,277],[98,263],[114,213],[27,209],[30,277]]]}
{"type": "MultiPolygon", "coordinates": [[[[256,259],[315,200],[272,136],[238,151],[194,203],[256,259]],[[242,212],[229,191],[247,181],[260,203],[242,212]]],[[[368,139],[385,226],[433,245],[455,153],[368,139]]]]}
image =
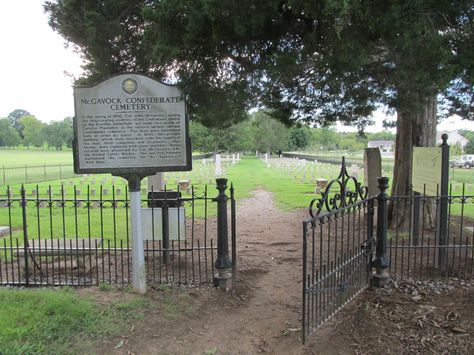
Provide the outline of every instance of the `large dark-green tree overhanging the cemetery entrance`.
{"type": "Polygon", "coordinates": [[[177,80],[191,115],[210,126],[229,126],[257,104],[287,124],[340,120],[361,130],[375,109],[396,111],[392,194],[410,195],[413,146],[436,143],[438,97],[446,112],[474,118],[472,0],[58,0],[45,8],[82,52],[86,81],[127,70],[177,80]]]}

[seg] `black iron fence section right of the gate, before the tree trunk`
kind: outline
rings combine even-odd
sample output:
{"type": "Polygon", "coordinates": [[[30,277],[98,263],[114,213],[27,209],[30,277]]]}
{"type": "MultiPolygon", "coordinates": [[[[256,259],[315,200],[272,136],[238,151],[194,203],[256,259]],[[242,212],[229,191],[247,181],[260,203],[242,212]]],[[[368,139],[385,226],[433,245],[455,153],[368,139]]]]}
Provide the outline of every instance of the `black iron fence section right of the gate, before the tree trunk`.
{"type": "MultiPolygon", "coordinates": [[[[464,191],[464,190],[463,190],[464,191]]],[[[393,279],[471,279],[474,271],[474,196],[397,196],[387,235],[393,279]],[[447,233],[439,223],[443,198],[448,203],[447,233]],[[408,213],[408,218],[401,218],[408,213]]]]}

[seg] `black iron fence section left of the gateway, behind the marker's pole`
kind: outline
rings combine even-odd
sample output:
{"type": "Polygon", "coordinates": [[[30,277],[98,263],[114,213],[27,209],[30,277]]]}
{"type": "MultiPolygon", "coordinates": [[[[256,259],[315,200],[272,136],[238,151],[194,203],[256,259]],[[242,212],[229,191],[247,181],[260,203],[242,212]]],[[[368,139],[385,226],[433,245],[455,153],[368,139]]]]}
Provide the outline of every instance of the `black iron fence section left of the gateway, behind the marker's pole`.
{"type": "MultiPolygon", "coordinates": [[[[212,283],[217,244],[217,191],[156,192],[142,200],[147,282],[212,283]]],[[[235,269],[234,188],[228,204],[235,269]]],[[[131,282],[131,226],[127,192],[0,197],[0,284],[72,285],[131,282]]]]}

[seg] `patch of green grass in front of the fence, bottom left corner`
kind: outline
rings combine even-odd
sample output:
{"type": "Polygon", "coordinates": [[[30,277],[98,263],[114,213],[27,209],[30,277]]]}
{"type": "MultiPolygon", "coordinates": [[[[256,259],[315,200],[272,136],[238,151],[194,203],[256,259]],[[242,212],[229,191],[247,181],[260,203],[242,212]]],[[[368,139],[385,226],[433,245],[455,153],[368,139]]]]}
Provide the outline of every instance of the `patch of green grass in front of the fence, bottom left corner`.
{"type": "Polygon", "coordinates": [[[0,288],[0,354],[81,354],[144,317],[146,298],[98,304],[62,289],[0,288]]]}

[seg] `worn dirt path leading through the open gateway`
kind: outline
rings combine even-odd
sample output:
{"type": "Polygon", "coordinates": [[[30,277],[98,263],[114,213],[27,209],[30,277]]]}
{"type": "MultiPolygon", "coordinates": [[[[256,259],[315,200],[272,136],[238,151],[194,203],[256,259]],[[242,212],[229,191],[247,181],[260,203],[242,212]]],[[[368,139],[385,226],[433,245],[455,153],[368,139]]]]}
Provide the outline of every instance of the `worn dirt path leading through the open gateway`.
{"type": "MultiPolygon", "coordinates": [[[[212,288],[188,293],[189,314],[151,314],[115,353],[299,354],[301,221],[304,211],[281,212],[259,190],[238,203],[238,276],[230,294],[212,288]]],[[[115,341],[115,340],[114,340],[115,341]]],[[[111,341],[109,345],[112,345],[111,341]]],[[[109,348],[110,350],[110,348],[109,348]]]]}

